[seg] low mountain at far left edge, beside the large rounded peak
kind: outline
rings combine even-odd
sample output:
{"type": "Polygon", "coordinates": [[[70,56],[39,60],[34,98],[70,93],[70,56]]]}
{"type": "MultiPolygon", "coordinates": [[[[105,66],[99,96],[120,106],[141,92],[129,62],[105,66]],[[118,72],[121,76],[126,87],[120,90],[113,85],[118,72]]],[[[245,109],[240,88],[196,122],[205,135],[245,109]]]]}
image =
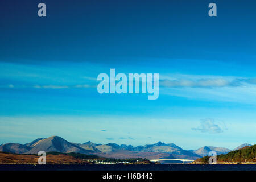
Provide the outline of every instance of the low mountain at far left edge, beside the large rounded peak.
{"type": "Polygon", "coordinates": [[[30,149],[30,147],[24,146],[23,144],[19,143],[6,143],[0,146],[1,152],[11,152],[15,154],[23,154],[30,149]]]}

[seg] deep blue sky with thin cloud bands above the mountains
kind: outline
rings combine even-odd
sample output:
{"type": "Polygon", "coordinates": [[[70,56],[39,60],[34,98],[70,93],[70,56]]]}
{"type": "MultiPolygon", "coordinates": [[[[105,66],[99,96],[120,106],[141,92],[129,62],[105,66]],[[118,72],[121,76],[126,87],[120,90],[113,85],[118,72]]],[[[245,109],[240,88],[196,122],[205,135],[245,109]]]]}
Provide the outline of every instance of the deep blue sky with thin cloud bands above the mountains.
{"type": "Polygon", "coordinates": [[[255,1],[1,1],[0,143],[255,144],[255,1]],[[38,3],[47,16],[39,18],[38,3]],[[217,5],[217,17],[208,5],[217,5]],[[159,98],[97,76],[159,73],[159,98]]]}

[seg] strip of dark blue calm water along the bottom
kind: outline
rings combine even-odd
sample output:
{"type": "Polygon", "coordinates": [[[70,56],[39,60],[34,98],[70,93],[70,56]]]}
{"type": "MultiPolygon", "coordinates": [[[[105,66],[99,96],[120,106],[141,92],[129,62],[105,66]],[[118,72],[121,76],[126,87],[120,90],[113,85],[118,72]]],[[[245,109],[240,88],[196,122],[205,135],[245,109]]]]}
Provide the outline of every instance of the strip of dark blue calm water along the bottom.
{"type": "Polygon", "coordinates": [[[0,171],[256,171],[256,165],[0,165],[0,171]]]}

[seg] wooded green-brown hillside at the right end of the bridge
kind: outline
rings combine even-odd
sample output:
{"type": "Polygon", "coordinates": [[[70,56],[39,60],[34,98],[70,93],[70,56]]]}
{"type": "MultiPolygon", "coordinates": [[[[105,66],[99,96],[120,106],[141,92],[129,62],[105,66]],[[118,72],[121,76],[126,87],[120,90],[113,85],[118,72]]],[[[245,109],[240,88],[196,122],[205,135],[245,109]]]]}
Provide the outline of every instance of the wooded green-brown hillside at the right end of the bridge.
{"type": "MultiPolygon", "coordinates": [[[[209,156],[195,160],[194,163],[208,164],[209,156]]],[[[256,163],[256,145],[246,146],[228,154],[217,155],[217,163],[256,163]]]]}

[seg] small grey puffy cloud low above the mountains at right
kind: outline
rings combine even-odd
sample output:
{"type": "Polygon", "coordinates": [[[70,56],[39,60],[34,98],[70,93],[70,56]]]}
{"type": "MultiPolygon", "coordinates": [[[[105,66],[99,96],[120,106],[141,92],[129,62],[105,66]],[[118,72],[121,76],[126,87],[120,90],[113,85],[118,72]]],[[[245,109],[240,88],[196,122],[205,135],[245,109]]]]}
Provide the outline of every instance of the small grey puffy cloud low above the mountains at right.
{"type": "Polygon", "coordinates": [[[219,123],[215,122],[214,119],[204,119],[201,121],[200,126],[192,128],[195,131],[201,131],[202,133],[222,133],[225,129],[225,126],[220,126],[219,123]]]}

